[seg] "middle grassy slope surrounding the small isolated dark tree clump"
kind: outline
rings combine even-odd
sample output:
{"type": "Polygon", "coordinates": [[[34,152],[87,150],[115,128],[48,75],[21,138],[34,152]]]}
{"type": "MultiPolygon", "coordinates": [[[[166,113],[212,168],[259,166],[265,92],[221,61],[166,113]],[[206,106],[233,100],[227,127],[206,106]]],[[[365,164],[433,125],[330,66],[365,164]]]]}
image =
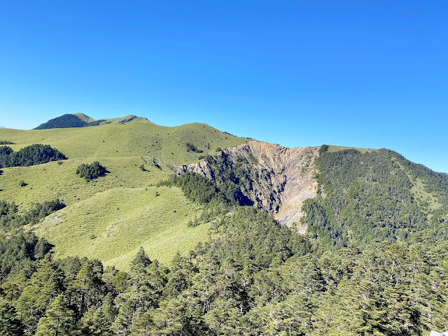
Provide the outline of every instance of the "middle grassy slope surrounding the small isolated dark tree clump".
{"type": "Polygon", "coordinates": [[[76,158],[31,167],[3,168],[0,179],[0,199],[13,200],[20,208],[26,209],[32,202],[44,202],[59,198],[70,205],[92,197],[96,193],[111,188],[142,188],[158,183],[169,176],[169,169],[158,169],[146,164],[148,172],[142,172],[139,165],[144,164],[140,157],[129,158],[76,158]],[[75,174],[81,163],[99,160],[110,174],[92,182],[86,182],[75,174]],[[27,186],[21,187],[24,181],[27,186]]]}

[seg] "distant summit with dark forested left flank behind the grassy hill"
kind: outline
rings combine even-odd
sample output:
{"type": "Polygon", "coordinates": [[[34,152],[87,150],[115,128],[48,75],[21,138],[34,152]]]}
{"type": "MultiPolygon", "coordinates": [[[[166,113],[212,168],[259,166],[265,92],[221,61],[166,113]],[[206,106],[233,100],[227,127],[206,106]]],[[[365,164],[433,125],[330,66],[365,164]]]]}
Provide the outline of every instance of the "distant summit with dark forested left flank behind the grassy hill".
{"type": "Polygon", "coordinates": [[[146,118],[137,117],[134,115],[125,116],[122,118],[99,119],[94,120],[84,113],[64,114],[57,118],[48,120],[46,123],[38,125],[34,130],[48,130],[50,128],[72,128],[72,127],[89,127],[106,124],[124,124],[130,122],[144,122],[151,123],[146,118]]]}

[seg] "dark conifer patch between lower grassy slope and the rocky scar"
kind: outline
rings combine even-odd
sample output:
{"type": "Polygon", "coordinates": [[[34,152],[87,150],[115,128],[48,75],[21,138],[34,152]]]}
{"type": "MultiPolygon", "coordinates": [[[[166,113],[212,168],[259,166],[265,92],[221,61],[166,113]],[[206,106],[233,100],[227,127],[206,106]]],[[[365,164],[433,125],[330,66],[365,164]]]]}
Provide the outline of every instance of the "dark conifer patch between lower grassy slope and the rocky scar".
{"type": "Polygon", "coordinates": [[[168,181],[159,183],[158,186],[177,186],[189,200],[198,203],[223,202],[232,203],[219,190],[215,183],[193,172],[172,176],[168,181]]]}

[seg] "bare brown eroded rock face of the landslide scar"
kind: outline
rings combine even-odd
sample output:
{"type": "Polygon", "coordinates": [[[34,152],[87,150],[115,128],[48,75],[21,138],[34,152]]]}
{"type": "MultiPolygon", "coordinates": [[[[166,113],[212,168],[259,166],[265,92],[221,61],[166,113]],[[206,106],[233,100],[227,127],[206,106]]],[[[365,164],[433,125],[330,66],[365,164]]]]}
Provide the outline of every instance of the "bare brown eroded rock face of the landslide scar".
{"type": "MultiPolygon", "coordinates": [[[[286,148],[262,141],[248,141],[225,148],[217,157],[244,165],[250,182],[241,192],[255,207],[265,209],[282,225],[290,226],[303,216],[302,203],[316,196],[317,183],[312,178],[313,162],[320,147],[286,148]]],[[[213,163],[202,161],[175,167],[178,174],[195,172],[216,182],[213,163]]],[[[306,230],[306,228],[300,228],[306,230]]]]}

